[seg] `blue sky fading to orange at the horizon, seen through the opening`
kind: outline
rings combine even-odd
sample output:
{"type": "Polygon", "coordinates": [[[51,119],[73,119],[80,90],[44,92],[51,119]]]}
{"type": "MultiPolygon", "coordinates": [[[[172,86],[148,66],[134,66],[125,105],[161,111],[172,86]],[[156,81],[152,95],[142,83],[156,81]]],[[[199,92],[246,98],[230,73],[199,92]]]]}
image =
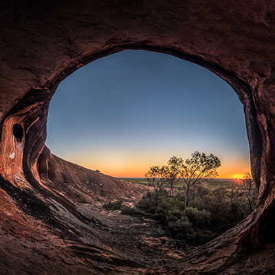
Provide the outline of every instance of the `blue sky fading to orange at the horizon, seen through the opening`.
{"type": "Polygon", "coordinates": [[[50,103],[46,145],[114,177],[144,177],[195,151],[221,159],[220,178],[250,170],[234,90],[199,65],[140,50],[100,58],[63,80],[50,103]]]}

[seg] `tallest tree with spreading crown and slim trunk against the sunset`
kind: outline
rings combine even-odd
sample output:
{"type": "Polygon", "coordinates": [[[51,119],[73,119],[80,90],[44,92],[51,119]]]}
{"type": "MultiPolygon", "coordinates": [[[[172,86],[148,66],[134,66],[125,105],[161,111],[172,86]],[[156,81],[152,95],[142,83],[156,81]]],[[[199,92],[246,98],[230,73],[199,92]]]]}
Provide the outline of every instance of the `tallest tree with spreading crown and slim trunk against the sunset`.
{"type": "Polygon", "coordinates": [[[186,184],[186,207],[188,207],[190,187],[203,180],[217,177],[216,169],[221,166],[221,160],[215,155],[206,155],[195,151],[192,153],[192,157],[186,161],[181,157],[171,157],[168,160],[168,166],[186,184]]]}

